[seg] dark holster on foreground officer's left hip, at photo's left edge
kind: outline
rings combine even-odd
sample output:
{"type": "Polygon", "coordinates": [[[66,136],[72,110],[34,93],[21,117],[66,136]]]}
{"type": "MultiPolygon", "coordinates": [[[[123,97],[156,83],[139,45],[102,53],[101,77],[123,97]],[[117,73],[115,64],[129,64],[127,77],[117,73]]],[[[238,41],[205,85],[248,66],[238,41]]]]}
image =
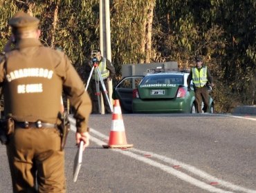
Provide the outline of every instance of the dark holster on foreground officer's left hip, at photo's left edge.
{"type": "Polygon", "coordinates": [[[7,119],[0,119],[0,141],[2,144],[7,144],[9,136],[15,131],[15,121],[9,117],[7,119]]]}

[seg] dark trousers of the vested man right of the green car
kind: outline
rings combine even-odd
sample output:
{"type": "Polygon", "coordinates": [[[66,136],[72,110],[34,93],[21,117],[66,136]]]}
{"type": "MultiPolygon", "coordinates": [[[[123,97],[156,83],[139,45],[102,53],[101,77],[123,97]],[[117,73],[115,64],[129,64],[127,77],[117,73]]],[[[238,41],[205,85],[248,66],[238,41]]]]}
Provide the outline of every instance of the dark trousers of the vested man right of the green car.
{"type": "Polygon", "coordinates": [[[209,111],[209,92],[206,86],[202,88],[196,88],[196,91],[194,92],[194,95],[196,97],[196,111],[201,113],[202,112],[202,102],[205,105],[204,112],[209,111]]]}

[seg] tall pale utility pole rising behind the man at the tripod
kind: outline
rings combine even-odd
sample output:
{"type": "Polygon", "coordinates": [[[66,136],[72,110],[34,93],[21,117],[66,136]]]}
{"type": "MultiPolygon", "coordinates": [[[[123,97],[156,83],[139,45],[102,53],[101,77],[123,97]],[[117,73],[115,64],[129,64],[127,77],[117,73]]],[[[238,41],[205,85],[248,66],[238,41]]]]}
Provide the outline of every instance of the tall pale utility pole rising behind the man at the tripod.
{"type": "MultiPolygon", "coordinates": [[[[110,32],[110,13],[109,0],[100,0],[100,50],[102,56],[111,61],[111,32],[110,32]]],[[[112,81],[109,81],[109,101],[113,105],[112,99],[112,81]]],[[[101,97],[102,98],[102,97],[101,97]]],[[[103,107],[103,101],[101,100],[103,107]]],[[[103,112],[101,112],[103,113],[103,112]]]]}

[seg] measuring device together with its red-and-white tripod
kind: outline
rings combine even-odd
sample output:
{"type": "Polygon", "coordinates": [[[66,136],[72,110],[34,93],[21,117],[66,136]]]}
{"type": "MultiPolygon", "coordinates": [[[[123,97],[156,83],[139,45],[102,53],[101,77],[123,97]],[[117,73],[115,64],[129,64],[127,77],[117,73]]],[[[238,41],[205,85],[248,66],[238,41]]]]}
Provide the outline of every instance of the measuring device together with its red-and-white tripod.
{"type": "Polygon", "coordinates": [[[109,96],[107,95],[106,87],[104,85],[102,76],[100,74],[100,70],[99,70],[99,62],[100,61],[98,61],[98,59],[97,59],[97,53],[98,53],[98,50],[92,50],[91,51],[91,61],[92,61],[93,66],[91,68],[91,72],[89,74],[89,78],[88,78],[85,90],[87,91],[90,80],[91,80],[91,76],[94,72],[94,74],[95,74],[95,85],[96,85],[96,94],[97,94],[97,97],[98,97],[98,110],[99,110],[99,112],[101,112],[101,106],[100,106],[100,83],[101,83],[102,89],[104,90],[104,94],[105,94],[106,99],[107,99],[107,103],[109,104],[109,108],[111,109],[111,112],[113,112],[112,105],[109,101],[109,96]],[[97,75],[98,75],[98,77],[97,77],[97,75]]]}

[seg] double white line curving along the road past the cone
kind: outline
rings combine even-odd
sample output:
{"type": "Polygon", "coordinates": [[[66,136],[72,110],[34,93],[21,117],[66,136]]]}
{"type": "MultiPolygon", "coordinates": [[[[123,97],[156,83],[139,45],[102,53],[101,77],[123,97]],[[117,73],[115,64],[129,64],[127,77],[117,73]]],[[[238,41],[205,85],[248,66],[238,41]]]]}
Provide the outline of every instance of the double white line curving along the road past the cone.
{"type": "MultiPolygon", "coordinates": [[[[236,117],[236,116],[234,116],[236,117]]],[[[240,118],[240,117],[239,117],[240,118]]],[[[76,128],[75,128],[75,120],[73,118],[70,118],[70,121],[71,121],[71,130],[73,131],[76,131],[76,128]]],[[[256,121],[256,120],[253,120],[253,121],[256,121]]],[[[95,134],[96,136],[99,136],[101,139],[104,139],[104,140],[107,140],[109,139],[108,136],[94,130],[91,128],[91,133],[95,134]]],[[[93,141],[94,143],[102,146],[102,144],[105,144],[104,141],[100,140],[100,139],[97,139],[93,136],[91,136],[91,141],[93,141]]],[[[126,156],[130,156],[138,161],[142,161],[143,163],[147,163],[149,165],[152,165],[154,167],[158,167],[159,169],[169,173],[169,174],[172,174],[173,176],[176,176],[177,178],[183,180],[183,181],[186,181],[188,183],[191,183],[192,185],[195,185],[196,187],[200,187],[202,188],[203,190],[207,190],[209,192],[228,192],[227,190],[221,190],[220,188],[217,188],[217,187],[213,187],[212,185],[210,185],[209,183],[204,183],[203,181],[199,181],[198,179],[194,179],[192,176],[189,176],[188,174],[185,174],[183,172],[180,172],[179,170],[175,170],[173,167],[169,166],[169,165],[164,165],[162,163],[158,163],[157,161],[153,161],[152,159],[149,159],[149,158],[145,158],[145,156],[141,156],[141,155],[138,155],[138,154],[150,154],[152,157],[158,159],[158,160],[161,160],[165,163],[168,163],[168,164],[172,164],[172,165],[180,165],[184,170],[187,170],[188,172],[191,172],[192,174],[196,175],[196,176],[199,176],[201,179],[204,179],[205,181],[208,181],[208,182],[211,182],[211,181],[214,181],[214,182],[217,182],[219,186],[221,187],[226,187],[226,188],[229,188],[231,190],[234,190],[234,191],[239,191],[239,192],[246,192],[246,193],[256,193],[256,190],[250,190],[250,189],[247,189],[245,187],[241,187],[239,185],[235,185],[235,184],[232,184],[230,182],[227,182],[227,181],[223,181],[221,179],[217,179],[217,177],[214,177],[202,170],[199,170],[197,169],[196,167],[192,166],[192,165],[188,165],[186,163],[183,163],[181,161],[177,161],[175,159],[170,159],[166,156],[161,156],[160,154],[155,154],[154,152],[146,152],[146,151],[143,151],[143,150],[137,150],[136,148],[131,148],[129,149],[129,151],[123,151],[123,150],[120,150],[120,149],[112,149],[113,151],[116,151],[116,152],[120,152],[121,154],[125,154],[126,156]],[[136,152],[137,154],[133,153],[133,152],[136,152]]]]}

